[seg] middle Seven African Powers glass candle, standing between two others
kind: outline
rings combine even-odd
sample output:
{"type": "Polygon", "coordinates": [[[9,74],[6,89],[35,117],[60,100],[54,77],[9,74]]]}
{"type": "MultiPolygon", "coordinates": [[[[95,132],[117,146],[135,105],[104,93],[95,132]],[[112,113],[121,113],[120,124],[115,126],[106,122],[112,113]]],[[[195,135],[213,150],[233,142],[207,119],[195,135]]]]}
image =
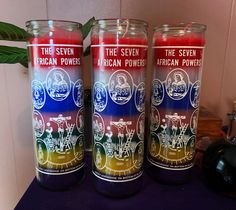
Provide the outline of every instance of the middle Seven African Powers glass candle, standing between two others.
{"type": "Polygon", "coordinates": [[[124,197],[142,186],[147,23],[98,20],[92,28],[93,174],[96,189],[124,197]]]}

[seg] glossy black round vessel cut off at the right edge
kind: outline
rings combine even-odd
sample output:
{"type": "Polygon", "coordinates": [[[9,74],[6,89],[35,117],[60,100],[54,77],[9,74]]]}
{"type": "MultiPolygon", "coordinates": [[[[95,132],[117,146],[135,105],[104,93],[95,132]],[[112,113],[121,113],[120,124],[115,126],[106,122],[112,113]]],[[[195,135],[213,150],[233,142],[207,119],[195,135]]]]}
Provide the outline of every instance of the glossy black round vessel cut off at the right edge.
{"type": "Polygon", "coordinates": [[[212,143],[204,153],[202,170],[213,189],[236,197],[236,145],[224,139],[212,143]]]}

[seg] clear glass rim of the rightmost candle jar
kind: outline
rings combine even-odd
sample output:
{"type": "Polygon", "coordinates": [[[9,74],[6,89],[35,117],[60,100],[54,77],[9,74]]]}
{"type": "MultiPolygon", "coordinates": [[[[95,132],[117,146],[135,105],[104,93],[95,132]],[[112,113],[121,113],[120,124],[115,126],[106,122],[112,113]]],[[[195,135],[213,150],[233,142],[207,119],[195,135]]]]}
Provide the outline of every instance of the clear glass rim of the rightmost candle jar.
{"type": "Polygon", "coordinates": [[[190,32],[204,32],[206,31],[207,26],[201,23],[190,22],[190,23],[179,23],[179,24],[163,24],[160,26],[154,27],[154,31],[190,31],[190,32]]]}

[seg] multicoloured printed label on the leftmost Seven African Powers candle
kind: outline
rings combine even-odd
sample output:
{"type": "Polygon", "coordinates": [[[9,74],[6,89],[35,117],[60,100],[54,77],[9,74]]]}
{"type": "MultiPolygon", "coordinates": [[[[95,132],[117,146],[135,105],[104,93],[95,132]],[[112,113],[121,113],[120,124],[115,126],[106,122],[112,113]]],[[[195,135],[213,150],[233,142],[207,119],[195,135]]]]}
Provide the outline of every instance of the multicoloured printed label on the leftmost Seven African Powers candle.
{"type": "Polygon", "coordinates": [[[84,165],[81,45],[29,44],[36,170],[67,174],[84,165]]]}

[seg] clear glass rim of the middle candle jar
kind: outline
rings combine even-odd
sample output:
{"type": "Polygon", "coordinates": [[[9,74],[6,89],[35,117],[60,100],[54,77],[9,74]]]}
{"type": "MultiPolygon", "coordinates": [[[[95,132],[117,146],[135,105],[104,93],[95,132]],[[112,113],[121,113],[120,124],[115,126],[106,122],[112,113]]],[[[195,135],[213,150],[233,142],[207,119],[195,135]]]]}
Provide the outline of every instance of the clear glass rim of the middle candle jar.
{"type": "Polygon", "coordinates": [[[108,25],[122,25],[122,24],[131,24],[131,25],[143,25],[144,27],[148,27],[148,23],[144,20],[140,19],[131,19],[131,18],[105,18],[105,19],[98,19],[95,20],[93,23],[93,26],[96,24],[102,25],[102,26],[108,26],[108,25]]]}

